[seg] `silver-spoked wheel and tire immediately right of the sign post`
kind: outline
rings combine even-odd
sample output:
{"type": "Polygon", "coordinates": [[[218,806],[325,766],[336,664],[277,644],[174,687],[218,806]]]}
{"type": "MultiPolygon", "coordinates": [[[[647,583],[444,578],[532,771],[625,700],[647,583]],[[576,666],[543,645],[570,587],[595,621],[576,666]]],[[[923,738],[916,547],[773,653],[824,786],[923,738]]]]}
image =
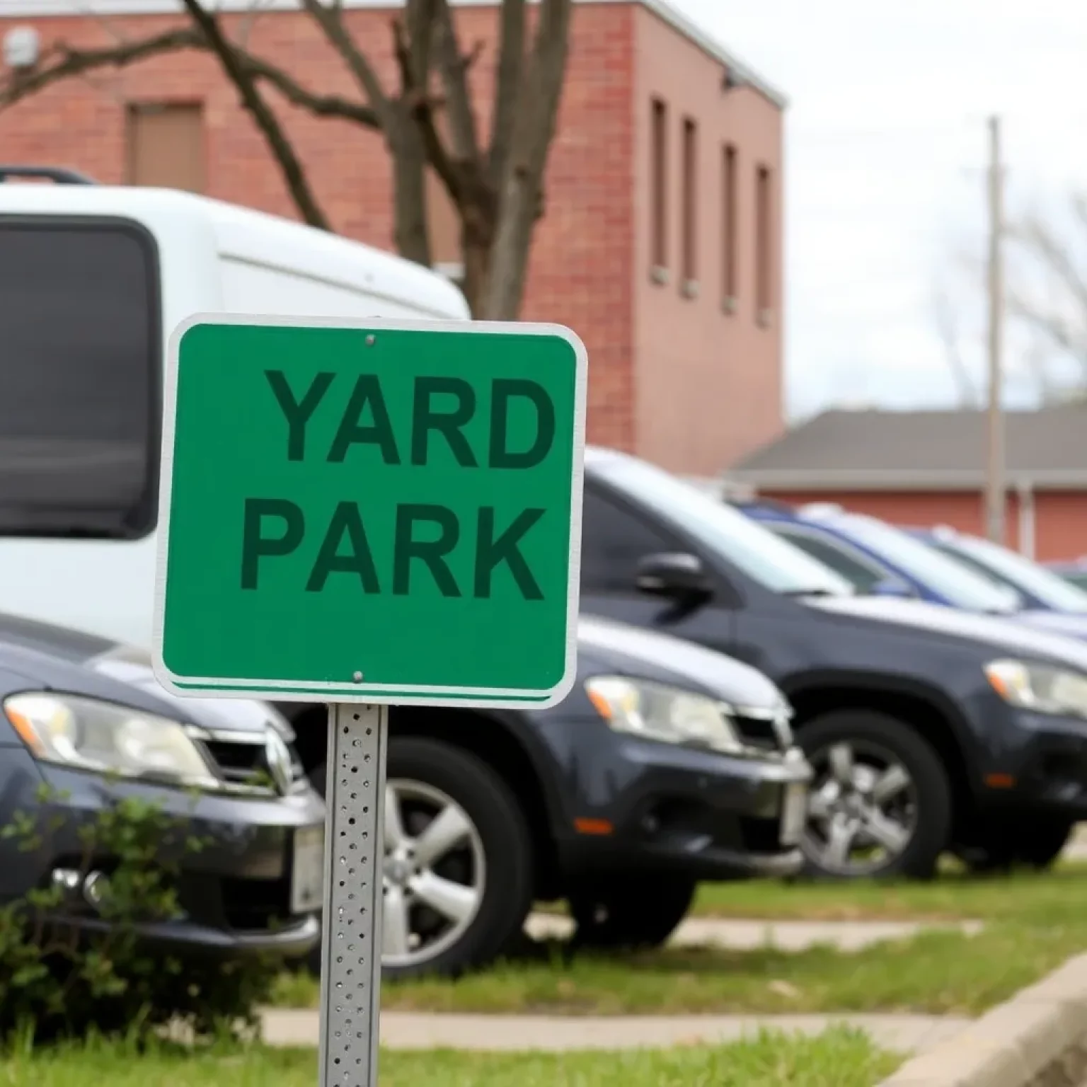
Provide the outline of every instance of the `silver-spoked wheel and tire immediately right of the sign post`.
{"type": "Polygon", "coordinates": [[[455,975],[496,959],[533,897],[532,838],[505,782],[453,745],[390,738],[383,880],[383,976],[455,975]]]}

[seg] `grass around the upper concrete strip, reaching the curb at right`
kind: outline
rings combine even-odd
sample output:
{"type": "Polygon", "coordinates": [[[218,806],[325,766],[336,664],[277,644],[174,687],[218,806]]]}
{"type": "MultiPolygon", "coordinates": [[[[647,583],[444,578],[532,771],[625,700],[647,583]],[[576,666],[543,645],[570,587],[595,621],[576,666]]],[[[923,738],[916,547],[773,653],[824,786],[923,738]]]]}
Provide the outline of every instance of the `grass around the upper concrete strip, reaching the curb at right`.
{"type": "MultiPolygon", "coordinates": [[[[446,1012],[746,1013],[914,1011],[971,1014],[1087,950],[1087,867],[1049,875],[929,885],[728,884],[707,888],[700,912],[837,919],[979,917],[984,930],[924,932],[854,953],[814,948],[670,949],[624,958],[541,949],[535,960],[458,982],[386,985],[388,1010],[446,1012]]],[[[316,984],[284,980],[277,1003],[315,1005],[316,984]]],[[[2,1083],[2,1082],[0,1082],[2,1083]]]]}

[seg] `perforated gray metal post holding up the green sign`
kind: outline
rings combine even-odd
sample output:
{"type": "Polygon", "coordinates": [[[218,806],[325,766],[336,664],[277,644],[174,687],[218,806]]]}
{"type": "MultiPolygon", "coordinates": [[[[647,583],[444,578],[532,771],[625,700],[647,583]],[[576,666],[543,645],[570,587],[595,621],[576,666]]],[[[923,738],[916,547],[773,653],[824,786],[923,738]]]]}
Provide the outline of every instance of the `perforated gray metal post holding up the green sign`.
{"type": "Polygon", "coordinates": [[[321,1087],[377,1082],[388,736],[388,707],[328,708],[321,1087]]]}

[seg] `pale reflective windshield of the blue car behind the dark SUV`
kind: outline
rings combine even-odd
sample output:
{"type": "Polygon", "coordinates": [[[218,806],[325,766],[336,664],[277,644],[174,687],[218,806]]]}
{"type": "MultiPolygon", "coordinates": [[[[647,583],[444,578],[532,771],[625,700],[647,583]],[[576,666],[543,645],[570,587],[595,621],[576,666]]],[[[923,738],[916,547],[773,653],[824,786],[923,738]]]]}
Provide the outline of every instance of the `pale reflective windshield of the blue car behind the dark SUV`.
{"type": "Polygon", "coordinates": [[[955,608],[1001,614],[1019,610],[1019,594],[994,585],[962,563],[891,525],[855,514],[835,518],[830,524],[873,554],[898,566],[919,584],[938,592],[955,608]]]}

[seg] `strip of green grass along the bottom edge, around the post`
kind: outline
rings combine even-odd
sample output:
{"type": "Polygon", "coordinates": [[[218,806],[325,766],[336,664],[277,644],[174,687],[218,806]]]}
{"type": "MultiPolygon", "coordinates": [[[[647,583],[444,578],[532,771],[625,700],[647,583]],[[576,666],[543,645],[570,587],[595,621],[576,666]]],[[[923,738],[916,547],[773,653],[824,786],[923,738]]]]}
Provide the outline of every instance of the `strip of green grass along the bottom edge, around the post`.
{"type": "MultiPolygon", "coordinates": [[[[763,1035],[721,1047],[626,1053],[384,1052],[382,1087],[872,1087],[900,1058],[858,1032],[763,1035]]],[[[2,1087],[313,1087],[311,1050],[136,1054],[87,1046],[0,1057],[2,1087]]]]}

